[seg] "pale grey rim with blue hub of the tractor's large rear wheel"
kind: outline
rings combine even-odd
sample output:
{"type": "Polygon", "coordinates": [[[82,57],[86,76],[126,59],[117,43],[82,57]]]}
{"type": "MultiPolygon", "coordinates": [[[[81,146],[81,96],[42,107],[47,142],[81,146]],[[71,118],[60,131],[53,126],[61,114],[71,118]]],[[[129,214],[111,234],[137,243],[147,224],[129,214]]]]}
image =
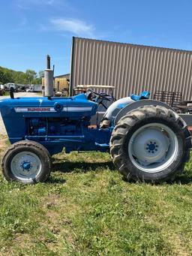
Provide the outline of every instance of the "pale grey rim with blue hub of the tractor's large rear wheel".
{"type": "Polygon", "coordinates": [[[160,172],[177,158],[178,138],[167,125],[143,125],[130,137],[128,155],[139,170],[146,173],[160,172]]]}

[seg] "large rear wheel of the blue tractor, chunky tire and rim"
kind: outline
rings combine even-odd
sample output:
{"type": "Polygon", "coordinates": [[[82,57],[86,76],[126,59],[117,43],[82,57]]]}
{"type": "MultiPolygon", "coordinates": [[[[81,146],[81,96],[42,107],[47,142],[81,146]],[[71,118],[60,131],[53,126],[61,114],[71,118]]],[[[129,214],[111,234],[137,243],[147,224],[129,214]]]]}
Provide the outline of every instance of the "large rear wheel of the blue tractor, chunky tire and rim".
{"type": "Polygon", "coordinates": [[[115,126],[110,153],[125,179],[164,182],[175,179],[189,160],[190,133],[172,110],[145,106],[123,116],[115,126]]]}

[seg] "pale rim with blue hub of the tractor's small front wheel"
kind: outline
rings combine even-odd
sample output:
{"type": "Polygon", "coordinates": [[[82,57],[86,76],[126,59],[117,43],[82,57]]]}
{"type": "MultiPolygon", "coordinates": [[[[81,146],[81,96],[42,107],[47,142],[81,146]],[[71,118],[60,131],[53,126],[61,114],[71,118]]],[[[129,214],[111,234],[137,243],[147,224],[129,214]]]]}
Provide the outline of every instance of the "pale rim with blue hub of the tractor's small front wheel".
{"type": "Polygon", "coordinates": [[[28,181],[35,179],[41,171],[40,158],[33,152],[23,151],[14,155],[10,170],[17,179],[28,181]]]}

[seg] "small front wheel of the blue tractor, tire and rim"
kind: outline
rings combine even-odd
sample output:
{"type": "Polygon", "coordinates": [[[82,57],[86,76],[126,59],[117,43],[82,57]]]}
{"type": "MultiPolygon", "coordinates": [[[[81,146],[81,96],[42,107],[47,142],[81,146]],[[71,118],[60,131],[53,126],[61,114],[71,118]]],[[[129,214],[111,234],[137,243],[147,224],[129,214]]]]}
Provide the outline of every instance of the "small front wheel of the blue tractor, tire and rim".
{"type": "Polygon", "coordinates": [[[2,172],[7,180],[28,184],[44,182],[50,170],[49,152],[34,141],[14,143],[2,158],[2,172]]]}

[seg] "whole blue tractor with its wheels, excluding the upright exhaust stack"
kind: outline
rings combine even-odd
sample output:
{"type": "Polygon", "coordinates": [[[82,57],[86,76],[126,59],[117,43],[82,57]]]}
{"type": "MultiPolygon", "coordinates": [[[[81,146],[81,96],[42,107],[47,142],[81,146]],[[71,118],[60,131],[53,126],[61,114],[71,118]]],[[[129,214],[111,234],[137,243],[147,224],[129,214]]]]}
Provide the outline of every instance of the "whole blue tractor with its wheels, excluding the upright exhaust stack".
{"type": "Polygon", "coordinates": [[[124,179],[164,182],[174,179],[189,159],[187,125],[168,105],[148,92],[113,102],[100,118],[107,95],[90,90],[70,98],[0,100],[12,144],[2,158],[5,179],[44,182],[51,156],[58,152],[110,152],[124,179]]]}

